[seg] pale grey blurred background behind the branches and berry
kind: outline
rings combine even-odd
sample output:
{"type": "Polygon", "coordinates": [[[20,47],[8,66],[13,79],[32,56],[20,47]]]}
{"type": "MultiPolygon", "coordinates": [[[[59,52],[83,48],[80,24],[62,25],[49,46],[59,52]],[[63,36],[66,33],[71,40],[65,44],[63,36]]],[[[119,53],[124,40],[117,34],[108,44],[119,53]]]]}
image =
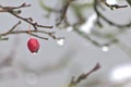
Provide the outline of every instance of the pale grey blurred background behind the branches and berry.
{"type": "MultiPolygon", "coordinates": [[[[38,0],[0,0],[1,5],[20,5],[23,2],[29,3],[32,7],[22,9],[22,16],[32,16],[34,21],[43,25],[55,25],[57,15],[52,14],[49,20],[44,18],[45,11],[39,7],[38,0]]],[[[48,5],[60,7],[57,0],[46,2],[48,5]]],[[[91,16],[91,14],[93,14],[92,11],[86,15],[91,16]]],[[[130,8],[126,8],[114,12],[109,10],[105,14],[115,22],[124,23],[129,21],[131,11],[130,8]]],[[[7,32],[17,21],[8,13],[0,13],[0,33],[7,32]]],[[[16,29],[26,28],[28,28],[28,24],[24,22],[16,27],[16,29]]],[[[106,28],[108,30],[114,27],[106,26],[106,28]]],[[[40,49],[37,54],[32,54],[27,49],[28,35],[11,35],[9,40],[0,41],[0,87],[66,87],[72,76],[78,77],[80,74],[88,72],[98,62],[102,65],[100,70],[93,73],[80,86],[115,87],[112,84],[116,83],[119,83],[121,87],[131,86],[131,75],[127,73],[131,72],[130,52],[127,53],[116,45],[107,48],[105,52],[73,32],[58,30],[57,27],[52,29],[57,30],[58,36],[66,38],[64,44],[59,46],[53,39],[38,39],[40,49]],[[5,59],[11,59],[11,64],[3,64],[5,59]],[[117,67],[119,67],[118,73],[117,67]],[[123,74],[127,75],[126,78],[119,77],[123,74]],[[127,84],[123,85],[123,83],[127,84]]],[[[130,37],[130,32],[118,36],[129,46],[131,45],[130,37]]]]}

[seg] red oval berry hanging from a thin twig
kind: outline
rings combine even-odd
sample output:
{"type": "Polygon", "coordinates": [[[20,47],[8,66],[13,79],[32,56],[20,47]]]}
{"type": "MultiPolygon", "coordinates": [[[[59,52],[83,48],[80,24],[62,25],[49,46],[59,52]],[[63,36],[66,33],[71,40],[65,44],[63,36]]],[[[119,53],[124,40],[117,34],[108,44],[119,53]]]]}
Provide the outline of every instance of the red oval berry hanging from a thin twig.
{"type": "Polygon", "coordinates": [[[29,38],[27,47],[32,53],[37,52],[39,49],[39,42],[36,38],[29,38]]]}

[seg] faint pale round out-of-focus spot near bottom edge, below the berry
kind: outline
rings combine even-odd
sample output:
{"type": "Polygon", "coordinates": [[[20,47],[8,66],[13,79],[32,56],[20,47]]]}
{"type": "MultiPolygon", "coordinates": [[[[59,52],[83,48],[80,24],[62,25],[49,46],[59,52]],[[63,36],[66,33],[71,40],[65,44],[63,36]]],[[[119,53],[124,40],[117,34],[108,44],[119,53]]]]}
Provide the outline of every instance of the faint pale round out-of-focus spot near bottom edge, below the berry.
{"type": "Polygon", "coordinates": [[[35,73],[28,73],[25,76],[25,82],[26,82],[27,85],[34,86],[38,83],[38,78],[37,78],[35,73]]]}

